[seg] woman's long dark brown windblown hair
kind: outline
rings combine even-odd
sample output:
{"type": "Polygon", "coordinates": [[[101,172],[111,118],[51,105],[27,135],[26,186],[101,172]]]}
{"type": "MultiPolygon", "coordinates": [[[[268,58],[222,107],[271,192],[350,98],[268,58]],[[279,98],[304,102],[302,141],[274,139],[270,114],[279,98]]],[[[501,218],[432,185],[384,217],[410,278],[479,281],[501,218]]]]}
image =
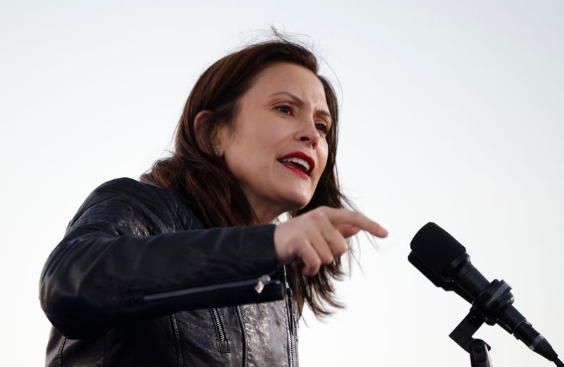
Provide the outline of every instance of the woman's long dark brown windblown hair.
{"type": "MultiPolygon", "coordinates": [[[[158,160],[142,176],[142,179],[154,181],[195,205],[208,227],[257,224],[255,212],[237,179],[223,159],[213,154],[212,138],[219,126],[233,127],[240,98],[251,88],[259,73],[276,62],[298,64],[319,78],[332,121],[331,130],[326,136],[329,146],[326,167],[312,200],[301,210],[291,212],[290,216],[300,215],[320,205],[340,208],[347,203],[339,190],[335,165],[338,132],[336,94],[331,83],[318,75],[319,64],[309,49],[278,37],[277,40],[252,44],[228,54],[202,73],[180,116],[172,156],[158,160]],[[202,116],[195,128],[195,116],[203,110],[209,110],[210,113],[202,116]]],[[[330,265],[322,265],[314,277],[302,275],[301,268],[302,265],[287,266],[300,313],[304,303],[317,316],[331,313],[326,304],[343,307],[335,299],[331,282],[341,279],[344,274],[340,258],[330,265]]]]}

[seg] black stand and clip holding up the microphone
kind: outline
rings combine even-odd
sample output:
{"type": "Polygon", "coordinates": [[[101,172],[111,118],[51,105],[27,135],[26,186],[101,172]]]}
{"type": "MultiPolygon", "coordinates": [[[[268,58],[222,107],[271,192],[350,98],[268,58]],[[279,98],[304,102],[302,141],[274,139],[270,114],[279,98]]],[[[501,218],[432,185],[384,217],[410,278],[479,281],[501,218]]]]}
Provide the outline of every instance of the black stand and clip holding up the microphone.
{"type": "Polygon", "coordinates": [[[448,335],[462,349],[470,353],[470,366],[493,367],[489,358],[491,347],[482,339],[474,339],[472,335],[484,323],[495,325],[497,316],[515,300],[510,290],[511,287],[505,281],[495,279],[474,300],[470,313],[448,335]]]}

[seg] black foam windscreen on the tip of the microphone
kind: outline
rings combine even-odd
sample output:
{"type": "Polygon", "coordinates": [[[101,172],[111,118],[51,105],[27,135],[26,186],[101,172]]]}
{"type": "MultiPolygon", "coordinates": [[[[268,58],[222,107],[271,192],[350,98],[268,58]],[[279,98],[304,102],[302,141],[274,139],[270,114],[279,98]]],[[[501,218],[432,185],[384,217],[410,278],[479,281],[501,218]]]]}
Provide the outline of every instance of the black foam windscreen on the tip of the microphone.
{"type": "Polygon", "coordinates": [[[411,240],[411,250],[419,261],[427,265],[435,275],[443,275],[448,265],[466,248],[438,225],[429,222],[411,240]]]}

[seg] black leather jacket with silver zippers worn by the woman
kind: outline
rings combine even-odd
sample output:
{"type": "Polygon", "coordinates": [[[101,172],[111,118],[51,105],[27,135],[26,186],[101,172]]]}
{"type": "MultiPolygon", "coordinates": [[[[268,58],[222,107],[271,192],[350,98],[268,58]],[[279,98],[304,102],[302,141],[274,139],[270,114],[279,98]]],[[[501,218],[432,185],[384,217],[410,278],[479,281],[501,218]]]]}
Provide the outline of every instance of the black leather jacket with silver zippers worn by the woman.
{"type": "Polygon", "coordinates": [[[46,365],[297,366],[275,226],[203,227],[162,188],[99,186],[41,275],[46,365]]]}

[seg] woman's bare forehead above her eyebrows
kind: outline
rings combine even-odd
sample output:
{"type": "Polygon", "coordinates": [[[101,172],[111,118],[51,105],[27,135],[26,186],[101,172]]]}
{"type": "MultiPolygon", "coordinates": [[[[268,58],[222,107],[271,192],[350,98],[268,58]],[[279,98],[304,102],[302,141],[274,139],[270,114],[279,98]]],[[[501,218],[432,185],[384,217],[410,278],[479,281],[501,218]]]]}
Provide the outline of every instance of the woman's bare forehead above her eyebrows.
{"type": "Polygon", "coordinates": [[[290,92],[317,107],[327,107],[321,80],[309,69],[286,62],[267,66],[248,90],[251,97],[266,98],[274,92],[290,92]]]}

